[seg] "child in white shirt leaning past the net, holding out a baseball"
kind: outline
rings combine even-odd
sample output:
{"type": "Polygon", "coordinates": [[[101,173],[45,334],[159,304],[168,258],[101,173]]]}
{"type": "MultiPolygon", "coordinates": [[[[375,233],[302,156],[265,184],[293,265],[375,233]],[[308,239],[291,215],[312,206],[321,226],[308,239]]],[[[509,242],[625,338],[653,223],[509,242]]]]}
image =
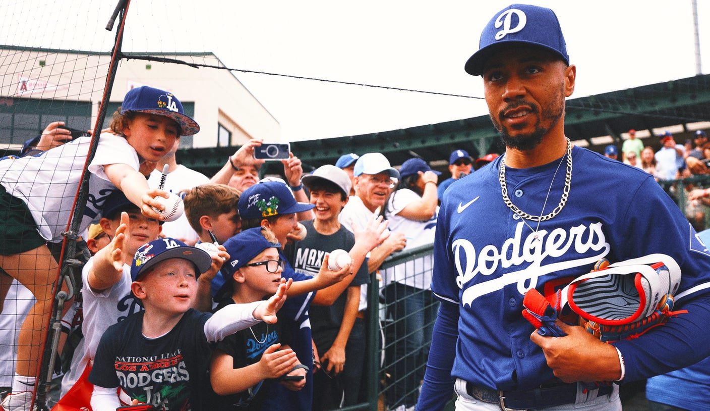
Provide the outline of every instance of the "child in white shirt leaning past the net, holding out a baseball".
{"type": "MultiPolygon", "coordinates": [[[[164,206],[155,197],[167,198],[168,193],[149,188],[145,175],[175,139],[195,134],[200,127],[185,115],[175,95],[143,86],[126,93],[111,130],[115,134],[105,132],[99,137],[88,166],[92,201],[86,204],[79,232],[99,217],[104,199],[116,189],[147,217],[162,219],[152,207],[162,210],[164,206]]],[[[58,272],[45,242],[63,240],[91,141],[92,137],[79,137],[38,156],[0,161],[0,198],[8,205],[0,215],[4,222],[0,225],[0,268],[37,299],[20,331],[13,394],[1,404],[5,411],[28,410],[33,403],[40,341],[49,323],[58,272]]]]}

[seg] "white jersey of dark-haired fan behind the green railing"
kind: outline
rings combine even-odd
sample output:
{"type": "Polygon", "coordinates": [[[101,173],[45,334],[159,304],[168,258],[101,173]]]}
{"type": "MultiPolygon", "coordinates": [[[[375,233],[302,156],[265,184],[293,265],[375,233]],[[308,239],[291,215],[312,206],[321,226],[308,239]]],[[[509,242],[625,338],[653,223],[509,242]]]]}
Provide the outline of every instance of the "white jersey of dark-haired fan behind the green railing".
{"type": "MultiPolygon", "coordinates": [[[[404,218],[399,213],[410,203],[420,201],[421,197],[409,188],[402,188],[392,193],[387,204],[388,228],[392,231],[404,233],[407,245],[402,251],[411,250],[422,245],[434,243],[434,233],[437,226],[437,206],[434,216],[427,221],[411,220],[404,218]]],[[[386,269],[382,277],[385,285],[391,282],[415,287],[418,289],[431,289],[432,287],[432,255],[417,258],[400,265],[386,269]]]]}

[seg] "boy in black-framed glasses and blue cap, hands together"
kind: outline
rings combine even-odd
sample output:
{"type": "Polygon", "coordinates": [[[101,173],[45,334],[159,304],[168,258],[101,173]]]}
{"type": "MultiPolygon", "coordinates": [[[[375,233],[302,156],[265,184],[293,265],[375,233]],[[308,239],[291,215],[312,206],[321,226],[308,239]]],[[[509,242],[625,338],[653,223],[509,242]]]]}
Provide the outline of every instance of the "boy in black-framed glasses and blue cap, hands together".
{"type": "MultiPolygon", "coordinates": [[[[268,229],[250,228],[224,242],[229,252],[225,272],[227,288],[217,309],[231,304],[261,301],[280,284],[285,261],[280,259],[280,243],[268,229]]],[[[209,376],[219,396],[219,410],[263,410],[266,397],[277,396],[273,385],[293,391],[305,386],[307,369],[300,365],[290,348],[290,327],[284,327],[283,314],[276,324],[256,324],[217,343],[209,376]],[[300,379],[284,380],[283,377],[300,379]]],[[[282,398],[281,400],[286,400],[282,398]]]]}

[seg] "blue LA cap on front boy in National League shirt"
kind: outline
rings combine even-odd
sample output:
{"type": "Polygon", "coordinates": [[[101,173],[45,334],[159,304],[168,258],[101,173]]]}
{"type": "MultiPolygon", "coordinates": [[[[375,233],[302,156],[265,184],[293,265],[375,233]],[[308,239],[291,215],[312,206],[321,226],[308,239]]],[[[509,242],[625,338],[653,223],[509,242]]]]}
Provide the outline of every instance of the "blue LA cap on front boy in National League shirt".
{"type": "Polygon", "coordinates": [[[142,245],[136,251],[133,262],[131,262],[131,281],[136,281],[141,275],[146,274],[146,271],[158,262],[170,258],[182,258],[192,262],[197,269],[195,278],[200,277],[200,274],[212,266],[212,257],[209,257],[209,254],[204,250],[190,247],[175,238],[158,238],[158,240],[142,245]]]}

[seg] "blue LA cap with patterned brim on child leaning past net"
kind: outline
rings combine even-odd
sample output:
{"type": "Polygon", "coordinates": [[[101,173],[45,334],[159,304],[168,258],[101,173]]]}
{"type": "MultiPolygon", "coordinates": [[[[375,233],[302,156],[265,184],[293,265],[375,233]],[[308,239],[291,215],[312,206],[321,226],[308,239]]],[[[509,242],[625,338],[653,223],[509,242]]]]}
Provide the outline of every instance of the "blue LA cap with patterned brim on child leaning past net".
{"type": "Polygon", "coordinates": [[[121,103],[121,114],[143,112],[168,117],[180,125],[181,136],[192,136],[200,131],[200,125],[182,110],[182,103],[173,93],[143,85],[126,93],[121,103]]]}

